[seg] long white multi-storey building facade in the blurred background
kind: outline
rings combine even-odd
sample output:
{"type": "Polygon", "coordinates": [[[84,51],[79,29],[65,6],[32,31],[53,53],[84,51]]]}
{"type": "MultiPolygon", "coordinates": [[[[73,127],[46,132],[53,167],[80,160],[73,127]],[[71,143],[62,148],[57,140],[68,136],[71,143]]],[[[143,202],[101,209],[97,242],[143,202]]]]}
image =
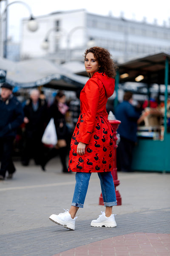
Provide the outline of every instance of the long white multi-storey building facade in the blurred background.
{"type": "Polygon", "coordinates": [[[95,15],[85,9],[54,12],[37,17],[37,21],[39,29],[34,33],[26,29],[27,21],[22,21],[20,59],[82,61],[85,49],[93,45],[107,48],[118,63],[161,51],[170,52],[170,24],[159,26],[145,20],[95,15]]]}

